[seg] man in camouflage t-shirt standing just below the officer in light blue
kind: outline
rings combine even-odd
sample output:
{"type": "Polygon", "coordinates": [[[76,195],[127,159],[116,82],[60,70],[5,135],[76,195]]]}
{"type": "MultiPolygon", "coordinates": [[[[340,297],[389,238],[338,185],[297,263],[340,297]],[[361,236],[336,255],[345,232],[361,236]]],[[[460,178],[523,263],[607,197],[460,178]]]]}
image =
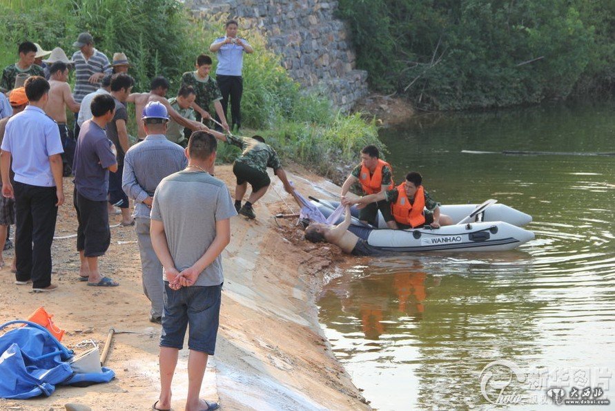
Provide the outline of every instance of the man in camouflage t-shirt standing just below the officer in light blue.
{"type": "Polygon", "coordinates": [[[192,107],[197,112],[197,121],[200,122],[202,118],[205,120],[211,118],[209,113],[211,112],[211,104],[213,103],[215,112],[220,119],[220,123],[222,123],[222,128],[228,131],[226,116],[222,110],[222,104],[220,104],[222,93],[220,93],[220,89],[215,80],[209,75],[212,64],[213,61],[211,61],[211,57],[208,55],[199,55],[195,64],[197,70],[188,71],[182,75],[182,87],[193,86],[195,89],[197,97],[192,107]]]}

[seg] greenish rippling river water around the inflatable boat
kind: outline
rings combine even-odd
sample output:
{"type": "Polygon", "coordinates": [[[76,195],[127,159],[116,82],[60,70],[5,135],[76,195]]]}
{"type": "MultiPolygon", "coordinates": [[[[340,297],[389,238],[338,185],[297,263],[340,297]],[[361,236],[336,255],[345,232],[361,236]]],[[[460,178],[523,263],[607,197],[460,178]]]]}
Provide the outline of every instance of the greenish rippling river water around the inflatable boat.
{"type": "Polygon", "coordinates": [[[420,115],[381,138],[396,182],[420,171],[442,203],[496,198],[533,216],[536,239],[338,269],[320,321],[373,408],[614,401],[615,157],[501,152],[615,152],[615,104],[420,115]]]}

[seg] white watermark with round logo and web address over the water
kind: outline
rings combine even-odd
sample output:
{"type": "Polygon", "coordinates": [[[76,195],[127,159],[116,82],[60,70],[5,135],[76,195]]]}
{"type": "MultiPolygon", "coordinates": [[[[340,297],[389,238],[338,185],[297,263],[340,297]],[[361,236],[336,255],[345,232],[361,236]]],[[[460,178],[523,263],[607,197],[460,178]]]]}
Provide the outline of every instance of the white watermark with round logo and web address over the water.
{"type": "Polygon", "coordinates": [[[608,368],[531,368],[492,361],[480,372],[480,393],[494,405],[609,405],[608,368]]]}

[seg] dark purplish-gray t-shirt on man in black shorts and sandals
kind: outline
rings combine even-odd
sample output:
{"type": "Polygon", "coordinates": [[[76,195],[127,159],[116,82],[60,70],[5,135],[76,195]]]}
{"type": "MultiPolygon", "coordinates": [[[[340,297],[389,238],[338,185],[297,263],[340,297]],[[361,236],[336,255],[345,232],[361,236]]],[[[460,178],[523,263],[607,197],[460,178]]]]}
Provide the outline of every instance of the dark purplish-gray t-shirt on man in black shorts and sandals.
{"type": "Polygon", "coordinates": [[[75,187],[88,200],[106,201],[109,191],[109,171],[117,161],[111,150],[111,142],[103,128],[88,120],[81,126],[72,172],[75,187]]]}

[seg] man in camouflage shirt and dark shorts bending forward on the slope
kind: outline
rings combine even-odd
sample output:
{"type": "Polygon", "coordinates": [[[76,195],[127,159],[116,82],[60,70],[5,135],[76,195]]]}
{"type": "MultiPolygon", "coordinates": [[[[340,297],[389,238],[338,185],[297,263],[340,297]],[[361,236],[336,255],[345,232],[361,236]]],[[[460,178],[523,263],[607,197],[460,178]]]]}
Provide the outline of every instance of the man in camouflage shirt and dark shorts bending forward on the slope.
{"type": "Polygon", "coordinates": [[[293,187],[286,178],[282,164],[280,164],[280,157],[277,157],[277,153],[272,146],[265,144],[263,137],[260,135],[237,137],[231,134],[224,135],[213,130],[207,132],[214,135],[218,140],[242,149],[242,155],[237,157],[233,164],[233,174],[237,178],[237,187],[235,187],[235,209],[237,213],[247,218],[256,218],[252,206],[267,192],[269,184],[271,184],[267,167],[271,167],[277,178],[280,178],[286,193],[293,193],[293,187]],[[248,182],[252,186],[252,193],[246,204],[242,206],[242,199],[248,189],[248,182]]]}

